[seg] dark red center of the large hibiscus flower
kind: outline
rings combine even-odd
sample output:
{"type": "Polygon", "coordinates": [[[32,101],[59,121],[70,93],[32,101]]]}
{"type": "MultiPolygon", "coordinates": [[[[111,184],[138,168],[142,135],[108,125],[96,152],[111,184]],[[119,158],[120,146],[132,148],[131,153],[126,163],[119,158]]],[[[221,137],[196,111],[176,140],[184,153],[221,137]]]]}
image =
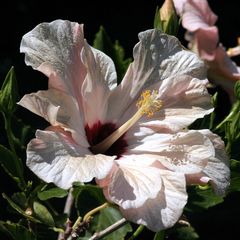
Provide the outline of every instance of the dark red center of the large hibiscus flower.
{"type": "MultiPolygon", "coordinates": [[[[117,127],[114,123],[102,124],[100,121],[94,123],[91,128],[88,125],[85,126],[85,132],[90,146],[100,143],[115,130],[117,130],[117,127]]],[[[123,134],[116,142],[114,142],[103,154],[108,156],[116,155],[117,158],[120,158],[121,155],[126,152],[126,148],[128,146],[124,136],[125,134],[123,134]]],[[[94,152],[94,154],[97,154],[97,152],[94,152]]]]}

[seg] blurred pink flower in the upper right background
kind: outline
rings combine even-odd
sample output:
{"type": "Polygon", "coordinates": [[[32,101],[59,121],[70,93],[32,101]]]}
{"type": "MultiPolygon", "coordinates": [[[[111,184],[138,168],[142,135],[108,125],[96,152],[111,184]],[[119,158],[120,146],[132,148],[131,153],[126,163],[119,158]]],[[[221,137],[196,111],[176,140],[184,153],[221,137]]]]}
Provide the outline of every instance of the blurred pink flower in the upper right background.
{"type": "Polygon", "coordinates": [[[240,79],[239,67],[229,58],[225,48],[219,44],[217,16],[207,0],[174,0],[182,25],[187,29],[189,48],[196,52],[208,66],[209,81],[221,85],[234,99],[234,84],[240,79]]]}

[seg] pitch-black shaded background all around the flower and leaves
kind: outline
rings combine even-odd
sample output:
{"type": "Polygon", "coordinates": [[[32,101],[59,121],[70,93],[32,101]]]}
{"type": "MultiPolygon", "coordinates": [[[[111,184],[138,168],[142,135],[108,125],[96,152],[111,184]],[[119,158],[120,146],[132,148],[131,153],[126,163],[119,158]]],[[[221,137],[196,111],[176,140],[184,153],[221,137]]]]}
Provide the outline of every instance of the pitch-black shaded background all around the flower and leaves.
{"type": "MultiPolygon", "coordinates": [[[[40,22],[55,19],[68,19],[85,24],[85,37],[91,44],[95,33],[103,25],[113,41],[119,40],[132,56],[133,46],[137,43],[140,31],[152,28],[156,6],[163,1],[4,1],[0,6],[0,82],[4,80],[11,66],[15,66],[19,84],[19,94],[47,88],[46,78],[24,64],[24,56],[19,53],[22,36],[40,22]],[[79,5],[79,6],[78,6],[79,5]]],[[[219,16],[220,41],[225,47],[233,47],[240,36],[240,8],[236,0],[210,0],[212,10],[219,16]]],[[[179,38],[183,39],[180,29],[179,38]]],[[[240,65],[239,57],[233,60],[240,65]]],[[[39,128],[42,124],[37,116],[20,109],[18,114],[27,124],[39,128]]],[[[1,118],[0,118],[1,119],[1,118]]],[[[0,124],[1,125],[1,124],[0,124]]],[[[2,129],[0,131],[2,133],[2,129]]],[[[4,141],[4,139],[1,139],[4,141]]],[[[12,180],[0,169],[1,192],[14,188],[12,180]]],[[[0,199],[0,216],[5,203],[0,199]]],[[[1,216],[2,218],[2,216],[1,216]]],[[[200,239],[238,239],[240,238],[240,195],[234,193],[226,198],[224,204],[211,208],[205,213],[189,216],[200,235],[200,239]],[[238,237],[234,237],[234,236],[238,237]]],[[[1,234],[0,234],[1,239],[1,234]]],[[[141,239],[141,238],[140,238],[141,239]]],[[[147,239],[147,238],[146,238],[147,239]]]]}

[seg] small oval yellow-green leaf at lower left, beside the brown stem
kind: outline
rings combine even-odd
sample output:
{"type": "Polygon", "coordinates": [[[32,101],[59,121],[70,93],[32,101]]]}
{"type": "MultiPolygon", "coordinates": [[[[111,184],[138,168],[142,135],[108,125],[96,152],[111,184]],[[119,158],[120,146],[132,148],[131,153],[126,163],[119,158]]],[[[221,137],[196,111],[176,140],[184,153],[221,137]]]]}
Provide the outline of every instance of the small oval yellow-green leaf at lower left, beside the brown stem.
{"type": "Polygon", "coordinates": [[[33,210],[36,215],[36,217],[44,224],[47,224],[48,226],[54,226],[54,219],[51,215],[51,213],[48,211],[48,209],[42,205],[39,202],[33,203],[33,210]]]}

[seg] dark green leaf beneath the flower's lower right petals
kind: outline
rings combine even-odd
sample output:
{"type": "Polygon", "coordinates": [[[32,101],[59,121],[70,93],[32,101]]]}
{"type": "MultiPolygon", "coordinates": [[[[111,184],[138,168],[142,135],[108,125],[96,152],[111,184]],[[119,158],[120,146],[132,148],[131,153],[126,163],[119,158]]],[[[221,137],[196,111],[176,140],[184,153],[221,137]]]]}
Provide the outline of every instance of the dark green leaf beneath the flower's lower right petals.
{"type": "Polygon", "coordinates": [[[223,202],[223,197],[216,195],[211,187],[207,187],[207,189],[197,186],[189,187],[188,196],[186,210],[189,211],[208,209],[223,202]]]}

